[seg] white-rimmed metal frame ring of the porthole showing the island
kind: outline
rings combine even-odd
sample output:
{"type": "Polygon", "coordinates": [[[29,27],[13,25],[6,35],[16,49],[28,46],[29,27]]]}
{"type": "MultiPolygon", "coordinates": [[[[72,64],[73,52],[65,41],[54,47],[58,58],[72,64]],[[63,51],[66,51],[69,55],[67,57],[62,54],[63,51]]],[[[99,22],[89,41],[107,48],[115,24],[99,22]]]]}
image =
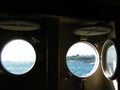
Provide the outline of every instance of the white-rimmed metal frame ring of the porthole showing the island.
{"type": "MultiPolygon", "coordinates": [[[[69,69],[69,67],[67,66],[67,62],[66,62],[66,67],[67,67],[67,69],[68,69],[68,72],[69,72],[70,76],[74,76],[74,77],[77,77],[77,78],[80,78],[80,79],[85,79],[85,78],[87,78],[87,77],[90,77],[91,75],[93,75],[93,74],[97,71],[98,66],[99,66],[99,62],[100,62],[100,61],[99,61],[99,53],[98,53],[98,50],[97,50],[96,46],[95,46],[94,44],[88,42],[88,41],[78,41],[78,42],[72,44],[72,45],[68,48],[67,52],[69,51],[69,49],[70,49],[73,45],[75,45],[75,44],[77,44],[77,43],[85,43],[85,44],[89,45],[92,49],[94,49],[95,52],[96,52],[96,60],[95,60],[95,63],[96,63],[96,64],[94,65],[93,69],[92,69],[89,73],[87,73],[85,76],[77,76],[77,75],[75,75],[75,74],[69,69]]],[[[67,56],[67,53],[66,53],[66,56],[67,56]]]]}

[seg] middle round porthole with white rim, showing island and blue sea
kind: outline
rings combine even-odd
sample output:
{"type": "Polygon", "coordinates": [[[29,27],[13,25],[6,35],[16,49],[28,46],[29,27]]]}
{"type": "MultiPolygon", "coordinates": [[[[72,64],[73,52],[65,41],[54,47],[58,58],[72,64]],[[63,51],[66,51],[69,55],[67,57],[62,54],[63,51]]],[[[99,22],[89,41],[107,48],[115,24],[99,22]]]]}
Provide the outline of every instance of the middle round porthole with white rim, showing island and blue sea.
{"type": "Polygon", "coordinates": [[[77,42],[68,49],[66,64],[73,75],[86,78],[97,70],[99,55],[94,45],[89,42],[77,42]]]}

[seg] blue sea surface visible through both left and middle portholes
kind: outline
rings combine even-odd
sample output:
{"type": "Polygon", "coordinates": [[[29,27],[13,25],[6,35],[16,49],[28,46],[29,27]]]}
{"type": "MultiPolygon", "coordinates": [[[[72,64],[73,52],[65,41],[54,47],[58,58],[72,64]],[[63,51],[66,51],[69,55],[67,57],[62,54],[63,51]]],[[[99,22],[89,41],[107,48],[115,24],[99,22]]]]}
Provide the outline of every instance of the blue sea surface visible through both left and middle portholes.
{"type": "MultiPolygon", "coordinates": [[[[3,67],[12,74],[24,74],[32,69],[34,62],[2,62],[3,67]]],[[[94,63],[83,63],[75,60],[68,60],[67,66],[74,75],[80,77],[88,74],[94,67],[94,63]]]]}

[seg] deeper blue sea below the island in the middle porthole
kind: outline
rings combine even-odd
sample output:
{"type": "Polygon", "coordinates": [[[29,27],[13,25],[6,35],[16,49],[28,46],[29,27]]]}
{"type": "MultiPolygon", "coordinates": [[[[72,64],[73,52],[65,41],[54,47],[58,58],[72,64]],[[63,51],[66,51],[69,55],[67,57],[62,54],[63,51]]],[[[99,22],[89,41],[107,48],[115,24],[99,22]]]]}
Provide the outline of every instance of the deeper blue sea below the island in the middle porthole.
{"type": "Polygon", "coordinates": [[[76,76],[81,77],[87,75],[94,67],[94,63],[84,63],[75,60],[68,60],[67,66],[69,70],[76,76]]]}

